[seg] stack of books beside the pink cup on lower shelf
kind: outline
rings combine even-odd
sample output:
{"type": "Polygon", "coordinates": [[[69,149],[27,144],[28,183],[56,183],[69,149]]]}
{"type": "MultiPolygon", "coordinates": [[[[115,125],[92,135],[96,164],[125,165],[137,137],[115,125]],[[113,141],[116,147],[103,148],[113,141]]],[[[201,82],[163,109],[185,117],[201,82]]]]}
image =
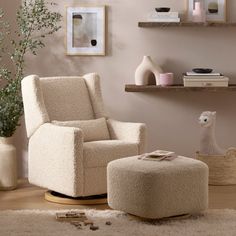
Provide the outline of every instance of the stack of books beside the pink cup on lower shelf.
{"type": "Polygon", "coordinates": [[[185,87],[228,87],[229,78],[221,73],[200,74],[187,72],[183,77],[185,87]]]}

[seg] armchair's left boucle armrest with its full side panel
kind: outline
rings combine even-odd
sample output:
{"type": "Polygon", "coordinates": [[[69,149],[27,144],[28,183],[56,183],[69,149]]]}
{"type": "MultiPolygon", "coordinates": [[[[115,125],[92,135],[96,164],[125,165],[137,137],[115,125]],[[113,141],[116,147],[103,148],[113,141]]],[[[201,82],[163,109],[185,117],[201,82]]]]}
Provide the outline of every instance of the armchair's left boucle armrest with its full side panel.
{"type": "Polygon", "coordinates": [[[83,189],[78,186],[83,183],[82,131],[41,125],[29,141],[29,181],[69,196],[82,196],[83,189]]]}

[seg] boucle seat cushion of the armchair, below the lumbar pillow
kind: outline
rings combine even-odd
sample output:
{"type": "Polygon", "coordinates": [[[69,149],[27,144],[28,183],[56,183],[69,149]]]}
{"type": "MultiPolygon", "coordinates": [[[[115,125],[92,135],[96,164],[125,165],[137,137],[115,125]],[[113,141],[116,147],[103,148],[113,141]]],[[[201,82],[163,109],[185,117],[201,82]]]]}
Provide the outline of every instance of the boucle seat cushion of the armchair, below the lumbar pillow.
{"type": "Polygon", "coordinates": [[[138,144],[120,140],[84,143],[84,164],[87,168],[105,167],[110,161],[137,155],[138,144]]]}

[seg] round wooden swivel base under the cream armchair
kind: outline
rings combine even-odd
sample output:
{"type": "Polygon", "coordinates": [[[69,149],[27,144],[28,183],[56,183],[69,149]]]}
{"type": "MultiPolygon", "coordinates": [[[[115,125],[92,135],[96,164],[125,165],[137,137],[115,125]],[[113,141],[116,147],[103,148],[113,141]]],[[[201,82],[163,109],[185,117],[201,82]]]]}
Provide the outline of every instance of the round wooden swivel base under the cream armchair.
{"type": "Polygon", "coordinates": [[[107,194],[73,198],[49,190],[45,193],[44,197],[49,202],[64,205],[101,205],[107,203],[107,194]]]}

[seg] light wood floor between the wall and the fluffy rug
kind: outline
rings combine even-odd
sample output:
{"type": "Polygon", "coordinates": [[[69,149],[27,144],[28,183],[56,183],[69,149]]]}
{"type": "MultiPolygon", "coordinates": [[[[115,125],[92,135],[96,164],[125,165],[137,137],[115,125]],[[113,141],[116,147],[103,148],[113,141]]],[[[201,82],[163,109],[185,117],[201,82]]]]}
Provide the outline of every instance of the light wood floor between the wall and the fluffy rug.
{"type": "MultiPolygon", "coordinates": [[[[107,209],[107,205],[70,206],[50,203],[44,200],[45,189],[30,185],[20,180],[14,191],[0,191],[0,210],[7,209],[107,209]]],[[[210,186],[209,207],[213,209],[236,209],[236,186],[210,186]]]]}

